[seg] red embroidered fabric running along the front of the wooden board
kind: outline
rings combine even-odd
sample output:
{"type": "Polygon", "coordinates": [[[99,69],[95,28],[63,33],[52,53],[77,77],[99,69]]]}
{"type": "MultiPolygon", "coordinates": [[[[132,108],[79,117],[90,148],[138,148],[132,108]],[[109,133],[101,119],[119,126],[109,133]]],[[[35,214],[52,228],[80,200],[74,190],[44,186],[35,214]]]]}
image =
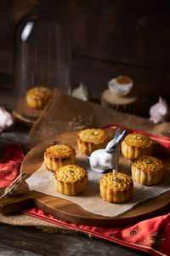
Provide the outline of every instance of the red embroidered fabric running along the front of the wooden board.
{"type": "Polygon", "coordinates": [[[170,213],[146,219],[125,228],[100,228],[68,223],[62,219],[54,218],[36,207],[22,212],[54,224],[59,224],[65,228],[81,230],[84,233],[99,236],[152,255],[170,255],[170,213]]]}

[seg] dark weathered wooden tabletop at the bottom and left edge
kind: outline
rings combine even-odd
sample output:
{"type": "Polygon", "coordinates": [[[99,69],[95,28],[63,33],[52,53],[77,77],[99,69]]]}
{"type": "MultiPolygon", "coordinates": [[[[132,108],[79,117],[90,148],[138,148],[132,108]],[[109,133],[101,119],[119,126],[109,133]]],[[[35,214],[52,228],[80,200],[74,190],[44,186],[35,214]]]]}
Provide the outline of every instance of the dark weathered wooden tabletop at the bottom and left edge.
{"type": "MultiPolygon", "coordinates": [[[[29,129],[15,124],[0,137],[0,154],[10,143],[25,143],[29,129]]],[[[48,233],[35,227],[0,224],[0,255],[149,255],[82,233],[48,233]],[[25,254],[24,254],[25,253],[25,254]]]]}

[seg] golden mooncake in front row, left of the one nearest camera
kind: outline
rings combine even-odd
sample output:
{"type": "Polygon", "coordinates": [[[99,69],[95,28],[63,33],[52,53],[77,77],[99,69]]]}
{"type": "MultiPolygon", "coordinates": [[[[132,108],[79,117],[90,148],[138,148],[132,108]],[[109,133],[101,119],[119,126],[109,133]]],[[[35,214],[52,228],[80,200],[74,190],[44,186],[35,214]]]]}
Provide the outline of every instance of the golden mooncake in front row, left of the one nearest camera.
{"type": "Polygon", "coordinates": [[[82,166],[62,166],[54,173],[55,189],[61,194],[80,194],[87,184],[88,172],[82,166]]]}

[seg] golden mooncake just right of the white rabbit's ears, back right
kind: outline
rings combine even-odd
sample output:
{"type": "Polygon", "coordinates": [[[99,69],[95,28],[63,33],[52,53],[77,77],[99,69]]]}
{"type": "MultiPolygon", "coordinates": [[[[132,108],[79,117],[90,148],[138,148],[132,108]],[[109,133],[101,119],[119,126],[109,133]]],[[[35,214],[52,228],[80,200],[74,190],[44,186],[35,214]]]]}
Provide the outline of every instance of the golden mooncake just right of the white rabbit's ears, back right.
{"type": "Polygon", "coordinates": [[[129,133],[122,142],[122,155],[134,160],[142,155],[150,155],[153,142],[150,137],[139,133],[129,133]]]}

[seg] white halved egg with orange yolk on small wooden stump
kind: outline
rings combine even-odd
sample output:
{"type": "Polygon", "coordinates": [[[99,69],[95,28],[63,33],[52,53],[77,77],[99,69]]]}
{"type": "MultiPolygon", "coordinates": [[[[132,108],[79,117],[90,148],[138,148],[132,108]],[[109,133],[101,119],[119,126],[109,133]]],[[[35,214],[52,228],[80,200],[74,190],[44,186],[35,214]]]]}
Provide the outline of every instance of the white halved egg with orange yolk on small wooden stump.
{"type": "Polygon", "coordinates": [[[133,88],[133,80],[127,76],[119,76],[115,79],[111,79],[108,86],[117,96],[126,96],[133,88]]]}

